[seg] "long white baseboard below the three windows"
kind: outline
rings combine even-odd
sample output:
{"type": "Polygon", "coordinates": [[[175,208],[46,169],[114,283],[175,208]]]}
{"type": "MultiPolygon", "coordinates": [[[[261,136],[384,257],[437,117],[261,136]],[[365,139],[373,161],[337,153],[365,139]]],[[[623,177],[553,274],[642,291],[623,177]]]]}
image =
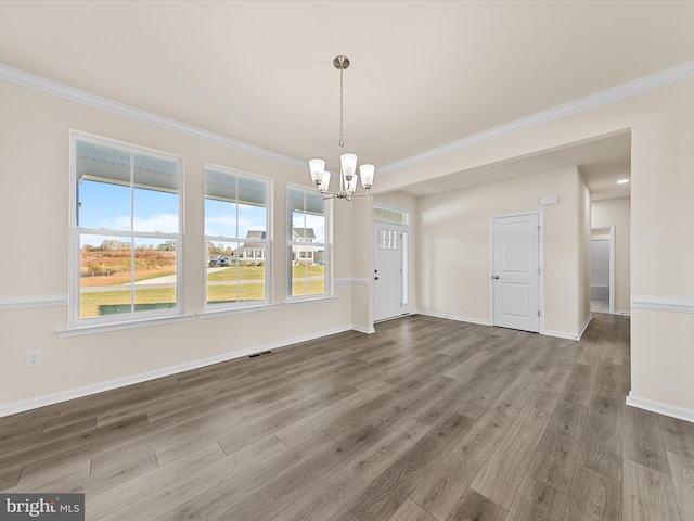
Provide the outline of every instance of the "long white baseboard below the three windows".
{"type": "Polygon", "coordinates": [[[162,369],[154,369],[152,371],[145,371],[145,372],[132,374],[129,377],[118,378],[115,380],[99,382],[91,385],[85,385],[81,387],[68,389],[65,391],[60,391],[57,393],[51,393],[43,396],[37,396],[35,398],[23,399],[21,402],[2,404],[0,405],[0,418],[10,416],[10,415],[16,415],[17,412],[24,412],[26,410],[37,409],[39,407],[46,407],[47,405],[54,405],[61,402],[67,402],[69,399],[89,396],[91,394],[103,393],[105,391],[112,391],[114,389],[125,387],[127,385],[133,385],[136,383],[156,380],[157,378],[170,377],[171,374],[178,374],[180,372],[198,369],[201,367],[211,366],[214,364],[233,360],[234,358],[242,358],[244,356],[253,355],[255,353],[260,353],[264,351],[272,351],[272,350],[279,350],[280,347],[287,347],[287,346],[291,346],[292,344],[298,344],[299,342],[307,342],[309,340],[316,340],[322,336],[329,336],[331,334],[343,333],[345,331],[351,331],[352,329],[360,332],[367,332],[367,331],[361,331],[360,329],[354,326],[345,326],[340,328],[334,328],[334,329],[321,331],[319,333],[296,336],[294,339],[286,339],[279,342],[270,342],[262,345],[256,345],[254,347],[248,347],[242,351],[235,351],[233,353],[223,353],[221,355],[216,355],[207,358],[202,358],[198,360],[188,361],[185,364],[164,367],[162,369]]]}

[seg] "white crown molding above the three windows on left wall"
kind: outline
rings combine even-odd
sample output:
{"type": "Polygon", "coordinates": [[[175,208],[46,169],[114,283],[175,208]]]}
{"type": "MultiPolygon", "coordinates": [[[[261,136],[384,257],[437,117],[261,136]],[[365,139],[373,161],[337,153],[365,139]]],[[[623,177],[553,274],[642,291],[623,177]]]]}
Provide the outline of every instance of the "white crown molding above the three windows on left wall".
{"type": "Polygon", "coordinates": [[[171,130],[184,136],[190,136],[191,138],[201,139],[213,144],[219,144],[228,149],[233,149],[239,152],[244,152],[246,154],[262,157],[265,160],[282,163],[295,168],[306,168],[306,162],[304,161],[295,160],[294,157],[290,157],[278,152],[272,152],[271,150],[256,147],[254,144],[239,141],[236,139],[228,138],[220,134],[211,132],[209,130],[205,130],[187,123],[177,122],[176,119],[160,116],[152,112],[143,111],[142,109],[138,109],[126,103],[120,103],[118,101],[110,100],[101,96],[92,94],[91,92],[87,92],[86,90],[80,90],[76,89],[75,87],[59,84],[57,81],[46,79],[34,74],[25,73],[24,71],[8,67],[7,65],[3,65],[1,63],[0,79],[10,84],[15,84],[22,87],[27,87],[29,89],[38,90],[39,92],[43,92],[46,94],[55,96],[57,98],[63,98],[76,103],[81,103],[93,109],[99,109],[101,111],[124,116],[129,119],[134,119],[147,125],[153,125],[166,130],[171,130]]]}

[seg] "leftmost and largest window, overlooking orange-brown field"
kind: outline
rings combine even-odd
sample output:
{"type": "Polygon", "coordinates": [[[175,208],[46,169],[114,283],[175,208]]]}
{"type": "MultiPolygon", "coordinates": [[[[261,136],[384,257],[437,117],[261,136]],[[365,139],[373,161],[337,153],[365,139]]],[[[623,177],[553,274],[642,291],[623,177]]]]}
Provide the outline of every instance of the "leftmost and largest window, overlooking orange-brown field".
{"type": "Polygon", "coordinates": [[[73,325],[180,313],[181,161],[72,137],[73,325]]]}

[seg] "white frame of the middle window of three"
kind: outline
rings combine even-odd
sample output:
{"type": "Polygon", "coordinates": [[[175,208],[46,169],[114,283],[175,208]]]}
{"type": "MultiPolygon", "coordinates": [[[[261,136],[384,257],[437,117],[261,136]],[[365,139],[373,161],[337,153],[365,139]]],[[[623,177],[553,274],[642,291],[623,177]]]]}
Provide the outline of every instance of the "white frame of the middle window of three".
{"type": "MultiPolygon", "coordinates": [[[[272,241],[271,241],[271,226],[272,226],[272,219],[271,219],[271,206],[272,206],[272,180],[268,179],[266,177],[262,176],[258,176],[255,174],[248,174],[246,171],[241,171],[234,168],[229,168],[226,166],[220,166],[220,165],[214,165],[214,164],[209,164],[206,163],[205,164],[205,174],[204,174],[204,178],[205,178],[205,191],[203,194],[203,198],[207,199],[207,173],[208,170],[216,170],[218,173],[222,173],[222,174],[229,174],[230,176],[236,176],[236,178],[242,177],[242,178],[246,178],[246,179],[250,179],[253,181],[259,181],[262,182],[265,185],[265,194],[266,194],[266,205],[265,205],[265,211],[266,211],[266,238],[265,239],[253,239],[254,243],[264,243],[265,244],[265,256],[264,257],[256,257],[255,256],[255,250],[253,250],[253,254],[254,256],[252,258],[249,258],[250,260],[262,260],[265,263],[265,298],[262,301],[239,301],[239,302],[220,302],[220,303],[209,303],[207,300],[207,265],[208,265],[208,258],[207,258],[207,244],[209,242],[235,242],[237,244],[243,244],[244,242],[249,242],[247,237],[244,238],[240,238],[240,237],[231,237],[231,236],[207,236],[205,234],[205,251],[204,251],[204,255],[205,255],[205,277],[204,277],[204,283],[205,283],[205,290],[204,290],[204,295],[205,295],[205,312],[223,312],[223,310],[243,310],[243,309],[247,309],[247,308],[253,308],[253,307],[258,307],[258,306],[267,306],[270,303],[270,298],[271,298],[271,288],[270,288],[270,274],[272,272],[271,269],[271,264],[272,264],[272,255],[270,254],[271,252],[271,247],[272,247],[272,241]]],[[[236,182],[237,186],[237,182],[236,182]]],[[[231,200],[229,200],[230,202],[232,202],[231,200]]],[[[236,194],[236,199],[233,201],[234,203],[239,202],[239,198],[236,194]]],[[[203,207],[204,207],[204,202],[203,202],[203,207]]],[[[205,216],[206,217],[206,216],[205,216]]],[[[239,217],[237,214],[237,209],[236,209],[236,218],[239,217]]],[[[204,220],[204,219],[203,219],[204,220]]],[[[203,225],[204,226],[204,225],[203,225]]],[[[203,230],[203,233],[205,232],[205,230],[203,230]]],[[[245,252],[244,252],[245,254],[245,252]]],[[[244,257],[244,259],[248,259],[247,257],[244,257]]]]}

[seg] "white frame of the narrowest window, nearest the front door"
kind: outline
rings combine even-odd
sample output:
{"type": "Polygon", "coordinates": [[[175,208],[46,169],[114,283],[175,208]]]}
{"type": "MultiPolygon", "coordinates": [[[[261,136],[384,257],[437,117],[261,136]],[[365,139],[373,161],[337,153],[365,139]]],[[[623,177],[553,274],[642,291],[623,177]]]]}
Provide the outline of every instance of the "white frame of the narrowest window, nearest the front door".
{"type": "MultiPolygon", "coordinates": [[[[295,190],[304,193],[304,209],[306,209],[306,195],[316,195],[318,192],[316,189],[310,189],[301,185],[292,185],[287,183],[285,200],[287,201],[287,211],[286,211],[286,233],[287,233],[287,259],[286,259],[286,268],[287,268],[287,283],[286,283],[286,301],[287,303],[293,302],[301,302],[301,301],[314,301],[314,300],[325,300],[331,298],[332,296],[332,284],[331,284],[331,270],[332,270],[332,243],[331,243],[331,230],[332,230],[332,205],[330,204],[332,201],[323,200],[323,217],[325,219],[325,242],[311,242],[307,243],[306,241],[294,241],[293,238],[293,223],[292,215],[288,208],[288,194],[290,190],[295,190]],[[293,263],[293,251],[294,246],[306,246],[310,244],[313,247],[323,247],[323,293],[314,293],[310,295],[293,295],[292,294],[292,263],[293,263]]],[[[319,195],[320,196],[320,195],[319,195]]]]}

